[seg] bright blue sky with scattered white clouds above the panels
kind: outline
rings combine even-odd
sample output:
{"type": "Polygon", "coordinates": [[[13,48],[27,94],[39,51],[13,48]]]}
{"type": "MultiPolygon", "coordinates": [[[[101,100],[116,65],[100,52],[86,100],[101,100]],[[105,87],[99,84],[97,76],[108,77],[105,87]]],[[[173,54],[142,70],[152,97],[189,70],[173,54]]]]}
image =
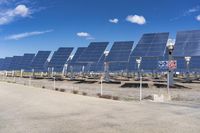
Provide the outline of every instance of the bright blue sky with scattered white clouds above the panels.
{"type": "Polygon", "coordinates": [[[199,0],[0,0],[0,58],[193,29],[199,0]]]}

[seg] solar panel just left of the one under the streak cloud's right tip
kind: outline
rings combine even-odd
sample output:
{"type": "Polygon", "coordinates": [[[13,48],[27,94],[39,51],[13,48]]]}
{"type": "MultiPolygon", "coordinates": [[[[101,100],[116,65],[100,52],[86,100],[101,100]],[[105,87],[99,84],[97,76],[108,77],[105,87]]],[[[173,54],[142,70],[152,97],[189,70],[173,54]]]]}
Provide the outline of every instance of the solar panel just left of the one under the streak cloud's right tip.
{"type": "Polygon", "coordinates": [[[25,53],[24,56],[22,57],[20,63],[19,63],[19,68],[23,69],[25,71],[30,71],[31,70],[31,63],[35,57],[35,54],[29,54],[25,53]]]}

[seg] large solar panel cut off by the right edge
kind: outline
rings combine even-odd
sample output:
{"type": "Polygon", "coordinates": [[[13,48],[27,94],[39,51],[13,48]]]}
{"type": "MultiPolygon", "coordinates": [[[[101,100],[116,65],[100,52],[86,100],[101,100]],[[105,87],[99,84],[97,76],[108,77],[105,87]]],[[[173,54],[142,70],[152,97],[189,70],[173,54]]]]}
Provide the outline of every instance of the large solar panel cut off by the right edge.
{"type": "Polygon", "coordinates": [[[200,56],[200,30],[178,32],[173,56],[200,56]]]}

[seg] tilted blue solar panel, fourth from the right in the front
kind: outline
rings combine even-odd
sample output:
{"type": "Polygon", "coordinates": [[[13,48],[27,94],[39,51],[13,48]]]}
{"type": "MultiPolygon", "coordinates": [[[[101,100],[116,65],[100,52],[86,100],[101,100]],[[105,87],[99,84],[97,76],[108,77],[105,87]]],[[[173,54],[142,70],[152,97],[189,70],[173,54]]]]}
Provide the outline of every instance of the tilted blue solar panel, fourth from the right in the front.
{"type": "Polygon", "coordinates": [[[78,58],[79,63],[95,63],[100,60],[109,42],[92,42],[78,58]]]}

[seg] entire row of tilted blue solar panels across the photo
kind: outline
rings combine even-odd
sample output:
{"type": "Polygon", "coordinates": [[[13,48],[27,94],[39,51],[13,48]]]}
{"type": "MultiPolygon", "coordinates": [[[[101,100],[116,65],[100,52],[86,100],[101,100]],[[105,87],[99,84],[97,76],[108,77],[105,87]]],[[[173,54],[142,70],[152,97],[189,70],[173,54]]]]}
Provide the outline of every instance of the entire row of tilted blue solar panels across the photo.
{"type": "MultiPolygon", "coordinates": [[[[37,55],[24,54],[24,56],[6,57],[0,59],[0,70],[31,70],[61,72],[66,62],[68,70],[103,71],[104,62],[109,63],[110,71],[137,70],[136,58],[142,57],[141,69],[158,70],[158,61],[168,59],[166,44],[169,33],[144,34],[136,47],[132,50],[133,41],[115,42],[110,52],[105,56],[104,52],[108,42],[92,42],[86,47],[77,49],[75,55],[67,62],[73,48],[59,48],[54,52],[50,62],[47,62],[50,51],[39,51],[37,55]],[[69,69],[70,68],[70,69],[69,69]]],[[[177,70],[186,69],[185,56],[191,56],[190,68],[200,69],[200,30],[182,31],[177,33],[173,55],[177,60],[177,70]]]]}

